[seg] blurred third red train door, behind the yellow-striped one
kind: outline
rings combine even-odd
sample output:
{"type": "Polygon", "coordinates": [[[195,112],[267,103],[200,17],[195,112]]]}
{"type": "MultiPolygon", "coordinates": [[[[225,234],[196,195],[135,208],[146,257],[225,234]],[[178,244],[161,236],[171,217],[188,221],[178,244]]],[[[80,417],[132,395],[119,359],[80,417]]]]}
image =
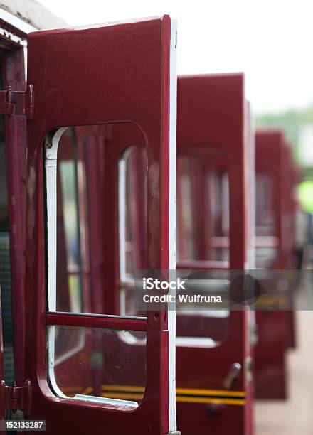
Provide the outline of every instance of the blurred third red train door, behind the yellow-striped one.
{"type": "MultiPolygon", "coordinates": [[[[255,147],[258,197],[256,267],[273,269],[274,274],[278,274],[275,269],[280,271],[292,267],[290,149],[285,143],[283,132],[274,129],[257,131],[255,147]]],[[[269,293],[275,294],[276,285],[267,284],[267,288],[269,286],[269,293]]],[[[255,394],[261,399],[286,399],[288,394],[285,353],[294,341],[292,288],[287,287],[281,296],[287,299],[289,311],[282,311],[282,308],[268,311],[266,307],[262,311],[260,307],[256,313],[259,339],[255,347],[255,394]]]]}

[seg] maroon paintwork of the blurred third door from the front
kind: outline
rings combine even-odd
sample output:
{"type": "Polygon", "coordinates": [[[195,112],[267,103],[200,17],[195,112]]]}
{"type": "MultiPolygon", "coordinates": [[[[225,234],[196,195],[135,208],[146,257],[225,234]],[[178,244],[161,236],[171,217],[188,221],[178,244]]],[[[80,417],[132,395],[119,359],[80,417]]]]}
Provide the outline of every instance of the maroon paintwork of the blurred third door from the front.
{"type": "MultiPolygon", "coordinates": [[[[274,218],[277,251],[270,269],[292,267],[292,159],[290,147],[280,130],[260,130],[255,134],[256,173],[272,181],[267,197],[274,218]],[[271,195],[270,195],[271,193],[271,195]]],[[[259,217],[262,220],[262,216],[259,217]]],[[[260,227],[262,230],[262,227],[260,227]]],[[[258,234],[257,234],[258,235],[258,234]]],[[[258,257],[257,257],[258,258],[258,257]]],[[[258,264],[257,267],[262,266],[258,264]]],[[[294,342],[292,311],[257,311],[258,343],[255,348],[255,394],[260,399],[287,397],[285,351],[294,342]]]]}

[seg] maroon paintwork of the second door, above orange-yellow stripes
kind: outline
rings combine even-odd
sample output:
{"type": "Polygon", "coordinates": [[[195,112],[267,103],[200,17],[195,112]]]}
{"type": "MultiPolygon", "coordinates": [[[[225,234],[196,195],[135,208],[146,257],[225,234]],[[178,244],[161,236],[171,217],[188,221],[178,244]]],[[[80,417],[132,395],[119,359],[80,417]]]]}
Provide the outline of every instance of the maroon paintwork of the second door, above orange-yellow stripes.
{"type": "MultiPolygon", "coordinates": [[[[179,77],[178,157],[196,156],[206,171],[206,162],[210,163],[210,156],[214,159],[222,151],[223,164],[229,174],[230,262],[228,266],[225,262],[216,262],[216,265],[220,263],[221,269],[229,267],[243,270],[248,265],[250,203],[247,186],[250,151],[245,135],[248,128],[245,104],[242,74],[179,77]]],[[[192,195],[199,196],[199,191],[201,192],[193,190],[192,195]]],[[[198,199],[203,209],[204,198],[198,199]]],[[[196,225],[199,230],[201,224],[196,221],[196,225]]],[[[203,240],[203,233],[199,237],[203,240]]],[[[201,251],[199,252],[196,260],[200,261],[187,261],[188,266],[191,269],[205,269],[210,264],[214,267],[214,262],[201,262],[205,257],[201,257],[201,251]]],[[[184,262],[179,261],[178,269],[181,266],[184,266],[184,262]]],[[[243,435],[253,432],[253,385],[248,382],[246,371],[240,372],[230,390],[223,387],[230,366],[238,362],[245,367],[246,360],[250,357],[249,324],[248,311],[231,311],[228,334],[215,348],[177,346],[178,388],[224,390],[225,397],[228,392],[240,391],[245,397],[243,405],[226,404],[216,408],[208,407],[205,403],[178,402],[177,421],[183,434],[227,434],[231,431],[232,434],[243,435]]],[[[210,331],[208,335],[211,336],[210,331]]]]}

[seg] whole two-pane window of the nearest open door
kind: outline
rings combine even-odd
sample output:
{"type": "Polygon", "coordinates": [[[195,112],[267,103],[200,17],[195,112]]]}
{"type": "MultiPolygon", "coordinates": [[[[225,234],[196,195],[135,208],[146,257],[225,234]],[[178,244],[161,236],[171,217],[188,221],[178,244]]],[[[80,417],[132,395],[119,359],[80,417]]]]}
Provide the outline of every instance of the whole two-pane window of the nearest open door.
{"type": "MultiPolygon", "coordinates": [[[[95,289],[91,284],[90,237],[95,230],[92,226],[101,220],[100,216],[92,214],[95,210],[92,201],[101,201],[103,209],[97,208],[101,214],[102,210],[110,213],[115,205],[91,190],[91,186],[97,186],[97,183],[92,183],[94,180],[90,178],[97,174],[90,171],[90,154],[96,153],[98,159],[102,154],[100,147],[95,149],[95,144],[90,142],[88,128],[60,129],[46,137],[50,313],[92,313],[92,301],[102,296],[105,299],[106,276],[95,289]],[[56,239],[53,237],[55,234],[56,239]]],[[[105,134],[102,139],[100,145],[103,148],[106,146],[105,134]]],[[[143,267],[147,261],[147,242],[143,242],[147,240],[144,233],[144,227],[147,227],[147,213],[144,211],[147,210],[146,159],[142,148],[132,147],[116,163],[124,183],[121,188],[125,199],[125,206],[120,210],[125,237],[120,245],[122,289],[133,278],[134,270],[143,267]],[[139,199],[145,207],[139,208],[139,199]]],[[[100,186],[98,188],[102,191],[100,186]]],[[[98,243],[102,245],[104,241],[100,237],[104,229],[99,230],[98,243]]],[[[107,251],[110,252],[110,247],[107,251]]],[[[102,314],[105,314],[105,306],[98,315],[102,314]]],[[[132,319],[136,314],[132,313],[132,319]]],[[[137,316],[139,322],[146,319],[137,316]]],[[[86,399],[88,396],[108,405],[117,404],[117,399],[120,399],[126,410],[137,407],[136,400],[142,399],[144,394],[146,376],[145,331],[51,324],[47,334],[48,375],[51,388],[58,397],[86,399]],[[137,342],[141,345],[135,345],[137,342]],[[134,367],[140,367],[140,370],[134,370],[134,367]],[[130,389],[132,386],[134,389],[130,389]],[[137,387],[140,387],[140,394],[136,392],[137,387]],[[127,402],[129,397],[136,400],[127,402]]]]}

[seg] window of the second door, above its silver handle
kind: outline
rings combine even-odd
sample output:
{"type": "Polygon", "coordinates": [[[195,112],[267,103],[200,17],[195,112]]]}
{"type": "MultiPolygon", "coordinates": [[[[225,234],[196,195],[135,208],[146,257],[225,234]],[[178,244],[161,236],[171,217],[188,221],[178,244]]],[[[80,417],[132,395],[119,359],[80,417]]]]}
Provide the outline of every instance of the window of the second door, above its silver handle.
{"type": "MultiPolygon", "coordinates": [[[[222,295],[228,300],[229,261],[229,182],[228,172],[213,166],[214,156],[181,155],[177,160],[177,269],[186,264],[189,294],[222,295]],[[211,263],[210,263],[211,262],[211,263]],[[214,270],[216,262],[223,269],[214,270]],[[222,263],[221,263],[222,264],[222,263]],[[201,271],[202,269],[202,271],[201,271]]],[[[221,165],[222,167],[225,166],[221,165]]],[[[185,275],[186,276],[186,275],[185,275]]],[[[226,339],[228,304],[205,310],[201,302],[176,312],[176,337],[179,345],[214,347],[226,339]]]]}

